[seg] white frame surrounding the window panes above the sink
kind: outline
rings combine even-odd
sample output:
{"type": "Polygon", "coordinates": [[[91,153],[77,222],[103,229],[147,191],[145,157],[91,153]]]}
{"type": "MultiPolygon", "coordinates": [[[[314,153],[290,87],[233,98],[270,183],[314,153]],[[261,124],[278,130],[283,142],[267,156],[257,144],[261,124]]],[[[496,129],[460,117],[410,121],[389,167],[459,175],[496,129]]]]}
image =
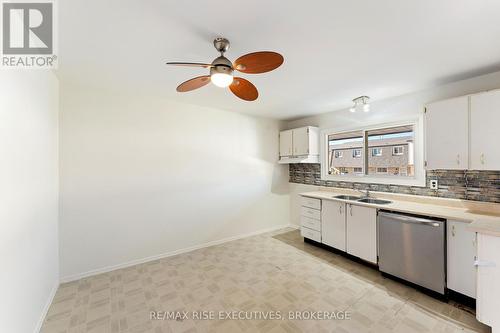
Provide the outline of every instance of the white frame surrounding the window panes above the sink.
{"type": "MultiPolygon", "coordinates": [[[[371,124],[364,127],[343,127],[343,128],[328,128],[320,131],[320,163],[321,163],[321,179],[326,181],[342,181],[342,182],[357,182],[357,183],[372,183],[372,184],[391,184],[391,185],[406,185],[406,186],[419,186],[425,187],[426,170],[424,167],[424,117],[423,112],[417,118],[402,120],[400,122],[392,123],[378,123],[371,124]],[[402,176],[388,174],[365,174],[363,173],[350,173],[347,175],[329,174],[329,161],[328,161],[328,136],[333,134],[342,134],[349,132],[361,131],[365,138],[364,147],[362,150],[363,165],[367,158],[367,135],[366,132],[372,130],[385,129],[390,127],[399,126],[413,126],[414,145],[413,145],[413,159],[414,159],[414,175],[402,176]]],[[[392,149],[391,149],[392,150],[392,149]]]]}

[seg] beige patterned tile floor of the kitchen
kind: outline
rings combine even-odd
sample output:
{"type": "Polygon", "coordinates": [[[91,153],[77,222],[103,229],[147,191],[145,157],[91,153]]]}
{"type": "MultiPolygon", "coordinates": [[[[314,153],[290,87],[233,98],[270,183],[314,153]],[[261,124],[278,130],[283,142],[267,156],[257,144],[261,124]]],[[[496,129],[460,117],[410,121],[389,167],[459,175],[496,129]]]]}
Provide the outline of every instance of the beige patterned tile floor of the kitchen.
{"type": "Polygon", "coordinates": [[[43,333],[333,331],[488,332],[488,327],[470,309],[386,279],[284,229],[64,284],[42,328],[43,333]],[[188,311],[188,319],[152,320],[152,311],[188,311]],[[278,319],[201,320],[192,319],[193,311],[215,318],[219,311],[245,311],[239,315],[254,318],[274,311],[278,319]],[[346,311],[350,319],[290,320],[290,311],[346,311]]]}

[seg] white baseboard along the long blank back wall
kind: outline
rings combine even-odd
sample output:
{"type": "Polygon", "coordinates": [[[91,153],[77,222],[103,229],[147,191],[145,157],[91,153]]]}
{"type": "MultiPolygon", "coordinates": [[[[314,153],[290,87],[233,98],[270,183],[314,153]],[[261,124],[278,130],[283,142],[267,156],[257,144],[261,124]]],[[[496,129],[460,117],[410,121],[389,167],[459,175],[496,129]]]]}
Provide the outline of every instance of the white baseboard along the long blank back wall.
{"type": "Polygon", "coordinates": [[[74,275],[69,275],[69,276],[62,277],[61,278],[61,283],[71,282],[71,281],[83,279],[83,278],[86,278],[86,277],[89,277],[89,276],[98,275],[98,274],[102,274],[102,273],[107,273],[107,272],[111,272],[111,271],[114,271],[114,270],[117,270],[117,269],[121,269],[121,268],[126,268],[126,267],[130,267],[130,266],[138,265],[138,264],[143,264],[143,263],[148,262],[148,261],[153,261],[153,260],[158,260],[158,259],[162,259],[162,258],[167,258],[167,257],[175,256],[175,255],[178,255],[178,254],[181,254],[181,253],[191,252],[191,251],[202,249],[202,248],[205,248],[205,247],[219,245],[219,244],[231,242],[231,241],[234,241],[234,240],[238,240],[238,239],[241,239],[241,238],[251,237],[251,236],[255,236],[255,235],[259,235],[259,234],[263,234],[263,233],[266,233],[266,232],[275,231],[275,230],[279,230],[279,229],[283,229],[283,228],[295,228],[295,229],[297,229],[298,226],[292,225],[292,224],[283,224],[283,225],[279,225],[279,226],[276,226],[276,227],[261,229],[261,230],[257,230],[257,231],[250,232],[250,233],[243,234],[243,235],[238,235],[238,236],[223,238],[223,239],[219,239],[219,240],[216,240],[216,241],[207,242],[207,243],[203,243],[203,244],[200,244],[200,245],[195,245],[195,246],[187,247],[187,248],[184,248],[184,249],[174,250],[174,251],[171,251],[171,252],[162,253],[162,254],[155,255],[155,256],[150,256],[150,257],[146,257],[146,258],[142,258],[142,259],[136,259],[136,260],[125,262],[123,264],[118,264],[118,265],[112,265],[112,266],[107,266],[107,267],[103,267],[103,268],[98,268],[98,269],[94,269],[94,270],[91,270],[91,271],[88,271],[88,272],[84,272],[84,273],[74,274],[74,275]]]}

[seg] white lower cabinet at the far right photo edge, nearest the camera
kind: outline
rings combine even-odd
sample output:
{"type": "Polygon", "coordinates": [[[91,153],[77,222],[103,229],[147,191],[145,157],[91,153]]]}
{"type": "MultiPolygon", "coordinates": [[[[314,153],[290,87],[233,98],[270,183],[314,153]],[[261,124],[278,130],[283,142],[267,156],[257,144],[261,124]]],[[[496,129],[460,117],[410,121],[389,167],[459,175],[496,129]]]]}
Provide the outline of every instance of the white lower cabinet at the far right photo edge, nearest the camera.
{"type": "Polygon", "coordinates": [[[476,318],[500,332],[500,237],[477,234],[476,318]]]}

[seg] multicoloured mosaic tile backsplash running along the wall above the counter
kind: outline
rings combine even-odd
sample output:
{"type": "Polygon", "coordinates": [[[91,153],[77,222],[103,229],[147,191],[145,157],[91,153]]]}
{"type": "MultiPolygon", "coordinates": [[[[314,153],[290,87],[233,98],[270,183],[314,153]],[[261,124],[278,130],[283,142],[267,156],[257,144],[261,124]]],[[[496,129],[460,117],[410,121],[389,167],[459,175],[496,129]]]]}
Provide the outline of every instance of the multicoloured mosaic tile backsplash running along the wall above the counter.
{"type": "Polygon", "coordinates": [[[500,203],[500,171],[427,171],[427,187],[321,180],[321,165],[309,163],[290,164],[289,175],[298,184],[500,203]],[[438,180],[437,190],[429,188],[431,179],[438,180]]]}

